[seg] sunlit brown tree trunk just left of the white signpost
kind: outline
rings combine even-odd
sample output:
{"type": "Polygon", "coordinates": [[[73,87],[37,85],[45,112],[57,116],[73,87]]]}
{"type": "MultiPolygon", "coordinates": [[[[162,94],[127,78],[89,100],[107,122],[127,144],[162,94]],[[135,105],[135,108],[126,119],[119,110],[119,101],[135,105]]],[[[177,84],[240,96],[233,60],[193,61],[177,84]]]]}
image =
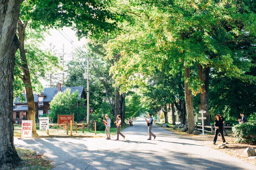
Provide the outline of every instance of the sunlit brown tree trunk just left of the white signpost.
{"type": "Polygon", "coordinates": [[[188,134],[192,134],[192,132],[195,130],[195,122],[194,122],[192,91],[188,89],[190,71],[189,71],[189,67],[185,67],[185,66],[183,67],[185,69],[184,81],[185,81],[185,101],[186,101],[186,110],[187,110],[187,118],[188,118],[188,134]]]}

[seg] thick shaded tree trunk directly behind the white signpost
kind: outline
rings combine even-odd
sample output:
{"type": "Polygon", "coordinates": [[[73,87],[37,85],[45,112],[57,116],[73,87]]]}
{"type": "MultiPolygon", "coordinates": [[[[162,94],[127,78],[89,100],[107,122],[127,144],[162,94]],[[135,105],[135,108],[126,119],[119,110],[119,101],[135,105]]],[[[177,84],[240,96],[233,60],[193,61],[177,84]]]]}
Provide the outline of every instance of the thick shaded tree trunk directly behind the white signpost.
{"type": "Polygon", "coordinates": [[[210,66],[203,68],[201,65],[197,66],[198,77],[204,83],[201,86],[202,92],[200,93],[199,109],[206,111],[204,113],[204,126],[210,126],[210,113],[209,113],[209,79],[210,79],[210,66]]]}

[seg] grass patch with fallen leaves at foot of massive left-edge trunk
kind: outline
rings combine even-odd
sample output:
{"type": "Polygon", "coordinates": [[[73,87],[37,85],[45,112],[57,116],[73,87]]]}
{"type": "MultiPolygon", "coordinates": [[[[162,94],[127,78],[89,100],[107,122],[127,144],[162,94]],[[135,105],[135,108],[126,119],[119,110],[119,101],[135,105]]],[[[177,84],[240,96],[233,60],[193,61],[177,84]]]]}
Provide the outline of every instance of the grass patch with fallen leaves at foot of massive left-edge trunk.
{"type": "Polygon", "coordinates": [[[16,169],[29,169],[29,170],[47,170],[52,169],[52,165],[43,155],[37,156],[35,151],[15,148],[21,159],[26,161],[25,164],[18,166],[16,169]]]}

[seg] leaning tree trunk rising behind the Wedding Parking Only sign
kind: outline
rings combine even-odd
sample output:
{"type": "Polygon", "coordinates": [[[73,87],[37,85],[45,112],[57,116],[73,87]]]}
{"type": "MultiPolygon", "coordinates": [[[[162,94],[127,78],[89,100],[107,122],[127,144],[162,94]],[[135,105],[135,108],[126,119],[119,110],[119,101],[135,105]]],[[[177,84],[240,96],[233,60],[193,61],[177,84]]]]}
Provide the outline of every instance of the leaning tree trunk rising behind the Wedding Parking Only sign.
{"type": "Polygon", "coordinates": [[[26,57],[26,50],[24,47],[25,40],[25,29],[28,23],[22,23],[21,20],[18,21],[18,33],[20,40],[20,60],[18,61],[20,69],[22,70],[23,75],[20,75],[21,80],[23,81],[26,89],[26,96],[28,102],[28,120],[33,120],[32,133],[36,134],[36,111],[35,111],[35,102],[33,88],[30,79],[30,72],[28,68],[28,62],[26,57]]]}

